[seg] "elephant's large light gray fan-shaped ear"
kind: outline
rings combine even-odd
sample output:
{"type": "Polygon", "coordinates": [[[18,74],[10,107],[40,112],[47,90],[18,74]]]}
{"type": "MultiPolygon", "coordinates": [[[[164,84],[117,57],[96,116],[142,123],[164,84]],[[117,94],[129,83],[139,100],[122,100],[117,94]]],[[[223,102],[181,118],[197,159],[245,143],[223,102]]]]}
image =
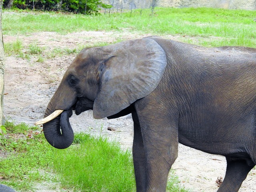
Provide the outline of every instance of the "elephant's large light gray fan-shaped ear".
{"type": "Polygon", "coordinates": [[[152,39],[137,39],[100,48],[100,89],[93,106],[96,119],[114,115],[150,94],[166,68],[166,54],[152,39]]]}

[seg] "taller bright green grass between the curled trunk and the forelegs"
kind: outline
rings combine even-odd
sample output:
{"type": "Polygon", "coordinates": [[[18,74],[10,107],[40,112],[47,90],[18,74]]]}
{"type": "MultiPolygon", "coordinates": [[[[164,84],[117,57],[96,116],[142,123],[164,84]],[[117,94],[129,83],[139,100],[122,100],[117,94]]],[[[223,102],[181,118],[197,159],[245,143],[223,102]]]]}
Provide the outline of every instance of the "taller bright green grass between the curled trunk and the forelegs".
{"type": "Polygon", "coordinates": [[[86,134],[76,137],[80,138],[79,145],[58,151],[54,162],[54,168],[64,178],[62,185],[88,192],[135,191],[130,151],[122,152],[119,145],[107,138],[86,134]]]}

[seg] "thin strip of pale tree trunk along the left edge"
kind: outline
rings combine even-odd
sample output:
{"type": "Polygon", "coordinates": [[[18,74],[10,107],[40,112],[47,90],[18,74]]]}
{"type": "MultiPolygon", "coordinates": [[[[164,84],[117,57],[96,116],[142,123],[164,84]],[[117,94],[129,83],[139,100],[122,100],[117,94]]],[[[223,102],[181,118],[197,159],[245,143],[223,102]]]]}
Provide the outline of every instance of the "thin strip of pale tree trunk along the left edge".
{"type": "Polygon", "coordinates": [[[0,126],[2,126],[4,100],[4,43],[2,34],[2,5],[3,0],[0,0],[0,126]]]}

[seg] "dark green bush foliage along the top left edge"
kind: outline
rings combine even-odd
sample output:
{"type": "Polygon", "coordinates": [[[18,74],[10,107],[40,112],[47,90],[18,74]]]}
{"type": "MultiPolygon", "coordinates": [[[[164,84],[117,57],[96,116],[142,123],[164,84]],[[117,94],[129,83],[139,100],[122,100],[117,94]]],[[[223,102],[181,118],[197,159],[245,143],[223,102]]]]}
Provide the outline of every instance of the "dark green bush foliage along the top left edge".
{"type": "Polygon", "coordinates": [[[4,0],[4,8],[12,1],[12,7],[31,10],[68,11],[81,14],[99,14],[101,8],[111,8],[101,0],[4,0]]]}

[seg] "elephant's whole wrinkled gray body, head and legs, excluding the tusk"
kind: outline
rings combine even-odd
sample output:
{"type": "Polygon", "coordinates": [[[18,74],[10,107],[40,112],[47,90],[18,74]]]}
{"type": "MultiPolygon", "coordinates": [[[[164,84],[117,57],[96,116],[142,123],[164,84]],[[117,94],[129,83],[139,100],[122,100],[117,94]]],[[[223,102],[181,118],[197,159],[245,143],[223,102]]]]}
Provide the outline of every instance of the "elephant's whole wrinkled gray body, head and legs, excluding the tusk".
{"type": "Polygon", "coordinates": [[[72,144],[68,118],[132,113],[137,192],[164,192],[178,142],[226,157],[218,192],[237,192],[256,164],[256,49],[203,48],[150,37],[82,50],[66,71],[45,116],[56,148],[72,144]],[[60,132],[60,126],[62,133],[60,132]]]}

